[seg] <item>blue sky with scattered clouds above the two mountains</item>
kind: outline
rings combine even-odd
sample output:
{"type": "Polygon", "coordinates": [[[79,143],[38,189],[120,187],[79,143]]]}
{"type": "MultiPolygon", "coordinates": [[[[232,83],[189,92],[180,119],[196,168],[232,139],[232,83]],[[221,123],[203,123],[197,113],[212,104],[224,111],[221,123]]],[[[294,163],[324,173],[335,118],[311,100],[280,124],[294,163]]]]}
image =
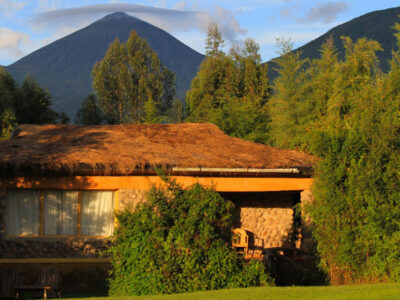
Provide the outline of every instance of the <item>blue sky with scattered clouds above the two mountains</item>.
{"type": "Polygon", "coordinates": [[[227,47],[251,37],[267,61],[276,56],[276,38],[290,38],[299,47],[336,25],[396,6],[398,0],[0,0],[0,65],[120,10],[201,53],[208,23],[215,22],[227,47]]]}

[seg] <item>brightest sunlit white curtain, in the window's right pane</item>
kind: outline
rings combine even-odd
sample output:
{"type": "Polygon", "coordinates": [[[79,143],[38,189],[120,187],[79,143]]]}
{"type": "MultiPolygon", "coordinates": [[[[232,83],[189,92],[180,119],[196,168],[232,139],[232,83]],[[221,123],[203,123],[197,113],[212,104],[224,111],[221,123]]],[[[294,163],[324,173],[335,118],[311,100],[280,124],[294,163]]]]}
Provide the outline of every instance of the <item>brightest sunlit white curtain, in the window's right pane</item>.
{"type": "Polygon", "coordinates": [[[114,229],[113,192],[83,191],[81,234],[109,236],[114,229]]]}

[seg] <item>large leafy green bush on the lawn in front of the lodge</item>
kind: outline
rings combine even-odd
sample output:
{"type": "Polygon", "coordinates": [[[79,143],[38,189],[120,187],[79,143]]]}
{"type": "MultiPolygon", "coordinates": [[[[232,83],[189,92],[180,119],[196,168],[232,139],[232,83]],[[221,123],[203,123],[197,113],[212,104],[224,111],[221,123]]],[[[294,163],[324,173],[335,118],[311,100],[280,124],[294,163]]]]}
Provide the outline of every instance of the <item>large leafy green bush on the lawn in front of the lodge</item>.
{"type": "Polygon", "coordinates": [[[179,293],[270,283],[261,262],[231,247],[234,205],[198,184],[166,179],[145,204],[118,215],[111,256],[111,295],[179,293]]]}

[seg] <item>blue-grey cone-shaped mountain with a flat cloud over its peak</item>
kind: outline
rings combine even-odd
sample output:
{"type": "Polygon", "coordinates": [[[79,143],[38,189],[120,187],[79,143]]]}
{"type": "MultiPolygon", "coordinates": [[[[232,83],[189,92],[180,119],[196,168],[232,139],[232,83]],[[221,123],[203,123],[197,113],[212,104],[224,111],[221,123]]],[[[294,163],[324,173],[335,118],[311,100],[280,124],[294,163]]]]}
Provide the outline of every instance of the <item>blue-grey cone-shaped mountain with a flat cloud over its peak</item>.
{"type": "Polygon", "coordinates": [[[6,68],[18,81],[33,76],[53,96],[55,110],[74,116],[92,92],[94,63],[103,58],[115,38],[125,42],[132,29],[147,40],[161,62],[176,74],[177,93],[182,97],[204,56],[167,32],[125,13],[108,15],[6,68]]]}

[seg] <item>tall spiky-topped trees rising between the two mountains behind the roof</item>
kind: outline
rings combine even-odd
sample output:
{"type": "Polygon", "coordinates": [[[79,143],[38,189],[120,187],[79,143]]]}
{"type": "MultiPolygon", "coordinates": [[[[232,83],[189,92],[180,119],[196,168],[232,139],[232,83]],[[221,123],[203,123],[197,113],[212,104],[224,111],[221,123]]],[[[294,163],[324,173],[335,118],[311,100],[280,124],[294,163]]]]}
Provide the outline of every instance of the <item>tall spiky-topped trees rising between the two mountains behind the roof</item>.
{"type": "Polygon", "coordinates": [[[187,121],[214,123],[229,135],[265,142],[269,86],[259,46],[247,39],[243,48],[233,47],[225,54],[223,43],[211,24],[207,56],[186,94],[187,121]]]}

